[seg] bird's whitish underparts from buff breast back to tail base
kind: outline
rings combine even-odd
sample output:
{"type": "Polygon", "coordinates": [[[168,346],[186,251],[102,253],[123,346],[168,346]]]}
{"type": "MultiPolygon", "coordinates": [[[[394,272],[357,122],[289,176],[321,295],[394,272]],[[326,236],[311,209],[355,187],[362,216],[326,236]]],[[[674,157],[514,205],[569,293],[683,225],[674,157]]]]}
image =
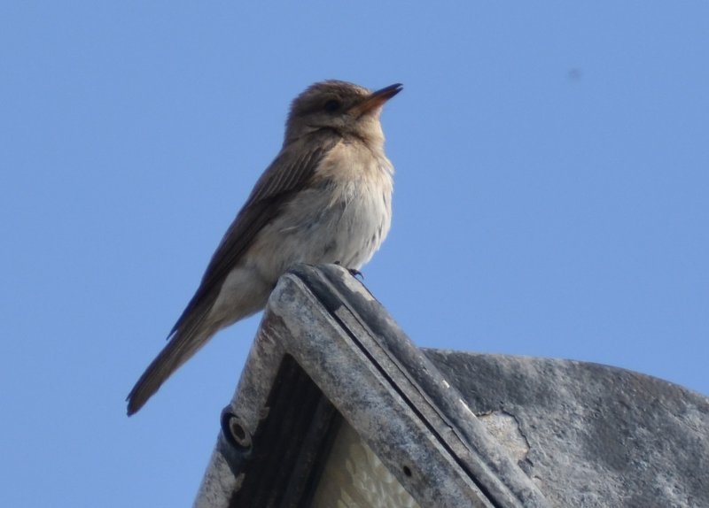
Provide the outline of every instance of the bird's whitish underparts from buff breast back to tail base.
{"type": "Polygon", "coordinates": [[[370,260],[391,225],[393,167],[383,152],[348,150],[347,144],[332,150],[314,185],[256,235],[224,281],[211,319],[226,326],[257,312],[278,277],[297,263],[359,269],[370,260]]]}

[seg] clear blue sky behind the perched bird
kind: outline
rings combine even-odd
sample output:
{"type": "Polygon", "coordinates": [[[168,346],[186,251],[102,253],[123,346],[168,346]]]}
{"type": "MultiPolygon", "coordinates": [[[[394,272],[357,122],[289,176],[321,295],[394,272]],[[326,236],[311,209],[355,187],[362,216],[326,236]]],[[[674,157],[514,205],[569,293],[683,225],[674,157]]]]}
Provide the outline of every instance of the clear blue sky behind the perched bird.
{"type": "Polygon", "coordinates": [[[709,3],[4,2],[2,506],[191,504],[258,317],[136,417],[313,81],[383,114],[365,283],[426,347],[709,394],[709,3]]]}

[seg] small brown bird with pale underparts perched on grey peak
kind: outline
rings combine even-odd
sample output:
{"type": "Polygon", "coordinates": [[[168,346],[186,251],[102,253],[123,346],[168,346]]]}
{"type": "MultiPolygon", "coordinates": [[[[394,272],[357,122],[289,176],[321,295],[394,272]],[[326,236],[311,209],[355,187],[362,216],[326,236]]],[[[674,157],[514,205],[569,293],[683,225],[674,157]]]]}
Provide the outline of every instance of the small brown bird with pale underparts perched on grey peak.
{"type": "Polygon", "coordinates": [[[297,263],[358,273],[392,220],[393,165],[380,113],[403,86],[320,81],[297,96],[284,142],[214,251],[199,287],[128,402],[129,416],[219,330],[261,311],[297,263]]]}

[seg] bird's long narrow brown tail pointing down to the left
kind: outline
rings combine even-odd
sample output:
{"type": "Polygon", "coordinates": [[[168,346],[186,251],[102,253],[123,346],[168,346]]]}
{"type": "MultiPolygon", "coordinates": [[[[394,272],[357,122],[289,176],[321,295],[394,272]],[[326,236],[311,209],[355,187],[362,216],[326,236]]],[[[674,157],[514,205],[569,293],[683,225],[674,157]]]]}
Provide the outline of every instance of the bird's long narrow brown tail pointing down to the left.
{"type": "Polygon", "coordinates": [[[148,399],[160,389],[168,377],[172,375],[184,362],[189,360],[209,338],[216,332],[215,329],[192,330],[187,333],[177,330],[160,354],[152,360],[145,372],[130,390],[128,401],[128,415],[137,412],[148,399]]]}

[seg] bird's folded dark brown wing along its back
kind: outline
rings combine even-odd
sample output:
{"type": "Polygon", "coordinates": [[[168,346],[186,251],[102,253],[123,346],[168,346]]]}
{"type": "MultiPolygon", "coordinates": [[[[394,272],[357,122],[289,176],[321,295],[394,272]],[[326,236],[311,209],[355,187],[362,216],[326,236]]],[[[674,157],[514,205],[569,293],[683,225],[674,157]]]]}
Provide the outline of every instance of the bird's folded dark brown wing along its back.
{"type": "Polygon", "coordinates": [[[209,313],[222,283],[237,265],[261,228],[269,224],[292,196],[303,189],[323,157],[339,142],[332,132],[321,132],[284,147],[253,187],[236,219],[214,252],[199,289],[173,327],[190,335],[209,313]]]}

